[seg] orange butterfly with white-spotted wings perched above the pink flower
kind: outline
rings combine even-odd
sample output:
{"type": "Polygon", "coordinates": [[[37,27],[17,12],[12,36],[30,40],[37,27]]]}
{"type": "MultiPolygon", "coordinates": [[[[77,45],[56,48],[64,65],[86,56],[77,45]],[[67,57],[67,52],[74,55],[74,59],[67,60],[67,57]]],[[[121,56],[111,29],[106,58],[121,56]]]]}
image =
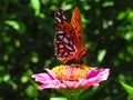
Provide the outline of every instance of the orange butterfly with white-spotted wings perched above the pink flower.
{"type": "Polygon", "coordinates": [[[80,10],[78,8],[73,10],[71,21],[61,8],[55,10],[54,17],[57,59],[63,63],[70,60],[79,62],[86,53],[80,10]]]}

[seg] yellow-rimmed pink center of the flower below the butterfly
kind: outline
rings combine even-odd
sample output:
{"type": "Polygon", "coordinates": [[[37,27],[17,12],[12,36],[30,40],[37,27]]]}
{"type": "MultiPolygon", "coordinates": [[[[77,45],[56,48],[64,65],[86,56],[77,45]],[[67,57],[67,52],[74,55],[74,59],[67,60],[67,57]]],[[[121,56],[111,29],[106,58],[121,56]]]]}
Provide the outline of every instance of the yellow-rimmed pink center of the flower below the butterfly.
{"type": "Polygon", "coordinates": [[[88,78],[90,68],[85,64],[57,66],[52,71],[60,81],[78,81],[79,79],[88,78]]]}

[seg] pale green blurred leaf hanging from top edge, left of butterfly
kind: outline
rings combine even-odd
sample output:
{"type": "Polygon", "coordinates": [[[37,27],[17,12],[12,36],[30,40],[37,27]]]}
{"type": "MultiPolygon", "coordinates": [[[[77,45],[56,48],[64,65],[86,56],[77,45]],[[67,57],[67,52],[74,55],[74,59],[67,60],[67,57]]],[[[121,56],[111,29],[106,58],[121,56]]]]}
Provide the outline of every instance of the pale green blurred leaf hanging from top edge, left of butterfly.
{"type": "Polygon", "coordinates": [[[31,0],[32,8],[34,9],[34,14],[39,16],[40,14],[40,0],[31,0]]]}

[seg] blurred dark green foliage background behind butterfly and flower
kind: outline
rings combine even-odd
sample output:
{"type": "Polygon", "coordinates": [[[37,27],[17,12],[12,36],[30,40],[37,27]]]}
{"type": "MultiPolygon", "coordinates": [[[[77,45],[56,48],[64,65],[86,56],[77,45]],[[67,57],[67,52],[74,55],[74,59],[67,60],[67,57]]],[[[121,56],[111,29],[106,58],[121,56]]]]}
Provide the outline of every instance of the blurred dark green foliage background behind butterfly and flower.
{"type": "Polygon", "coordinates": [[[108,81],[79,100],[127,100],[120,81],[133,86],[133,0],[0,0],[0,100],[62,97],[38,90],[31,79],[60,64],[53,46],[57,7],[70,18],[75,7],[81,10],[90,66],[111,69],[108,81]]]}

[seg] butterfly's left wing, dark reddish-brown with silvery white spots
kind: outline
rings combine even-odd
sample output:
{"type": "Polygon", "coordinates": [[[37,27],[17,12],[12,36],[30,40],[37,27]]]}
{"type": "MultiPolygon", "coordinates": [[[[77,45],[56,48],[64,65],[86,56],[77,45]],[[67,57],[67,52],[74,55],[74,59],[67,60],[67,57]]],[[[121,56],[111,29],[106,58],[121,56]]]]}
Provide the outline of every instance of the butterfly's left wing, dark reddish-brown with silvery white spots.
{"type": "Polygon", "coordinates": [[[75,32],[72,28],[68,16],[60,8],[55,10],[55,38],[54,48],[55,56],[61,62],[68,62],[73,59],[73,53],[75,52],[74,42],[78,42],[75,32]]]}

